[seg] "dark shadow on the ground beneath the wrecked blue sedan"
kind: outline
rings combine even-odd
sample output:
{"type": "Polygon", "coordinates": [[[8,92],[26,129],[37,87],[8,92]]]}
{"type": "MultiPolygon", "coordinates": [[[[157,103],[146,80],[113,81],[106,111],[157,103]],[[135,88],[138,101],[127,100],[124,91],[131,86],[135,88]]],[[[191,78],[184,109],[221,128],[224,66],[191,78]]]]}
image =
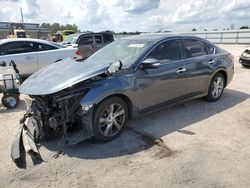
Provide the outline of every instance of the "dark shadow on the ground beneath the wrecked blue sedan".
{"type": "MultiPolygon", "coordinates": [[[[225,89],[223,96],[217,102],[192,100],[141,116],[129,121],[122,134],[113,141],[96,143],[87,140],[76,145],[64,146],[62,152],[63,155],[82,159],[104,159],[138,153],[156,144],[159,145],[161,137],[175,131],[190,136],[195,135],[195,132],[184,128],[232,108],[248,98],[250,95],[247,93],[225,89]]],[[[56,151],[58,141],[59,139],[47,141],[41,145],[56,151]]]]}

